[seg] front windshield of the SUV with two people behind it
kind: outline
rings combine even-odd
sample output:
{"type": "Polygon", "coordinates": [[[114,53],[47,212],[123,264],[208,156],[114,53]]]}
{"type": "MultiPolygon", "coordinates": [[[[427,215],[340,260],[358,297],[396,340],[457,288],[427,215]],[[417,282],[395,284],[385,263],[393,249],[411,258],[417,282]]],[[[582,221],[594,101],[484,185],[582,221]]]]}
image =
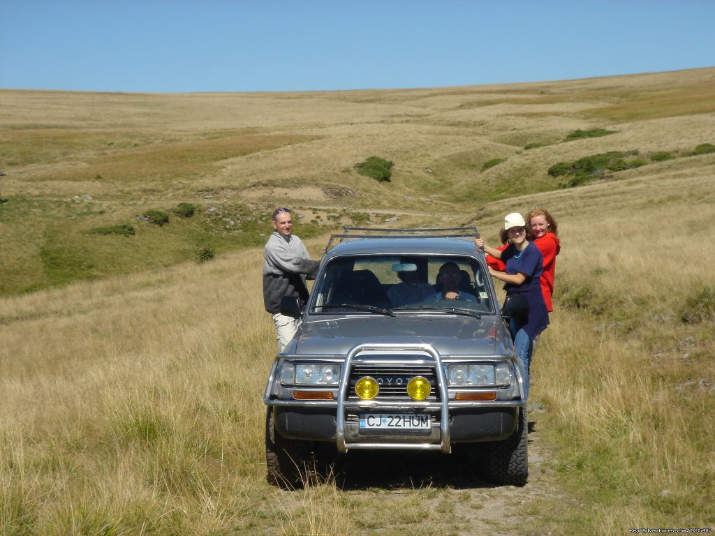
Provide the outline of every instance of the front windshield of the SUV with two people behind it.
{"type": "Polygon", "coordinates": [[[465,309],[493,314],[494,297],[487,275],[483,265],[471,257],[337,257],[313,285],[310,313],[465,309]]]}

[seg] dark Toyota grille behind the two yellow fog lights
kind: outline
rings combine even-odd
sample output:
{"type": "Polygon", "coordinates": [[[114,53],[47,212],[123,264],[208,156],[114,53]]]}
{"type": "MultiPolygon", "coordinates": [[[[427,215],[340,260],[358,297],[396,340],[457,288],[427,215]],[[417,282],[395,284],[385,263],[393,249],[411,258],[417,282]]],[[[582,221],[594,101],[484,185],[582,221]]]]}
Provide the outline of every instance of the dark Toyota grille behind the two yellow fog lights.
{"type": "Polygon", "coordinates": [[[432,392],[425,400],[434,401],[439,399],[438,382],[434,367],[428,365],[410,365],[407,367],[395,367],[393,365],[356,364],[350,372],[350,390],[348,399],[357,400],[355,394],[355,384],[358,379],[370,376],[380,385],[378,399],[410,399],[407,394],[407,384],[415,376],[422,376],[430,382],[432,392]]]}

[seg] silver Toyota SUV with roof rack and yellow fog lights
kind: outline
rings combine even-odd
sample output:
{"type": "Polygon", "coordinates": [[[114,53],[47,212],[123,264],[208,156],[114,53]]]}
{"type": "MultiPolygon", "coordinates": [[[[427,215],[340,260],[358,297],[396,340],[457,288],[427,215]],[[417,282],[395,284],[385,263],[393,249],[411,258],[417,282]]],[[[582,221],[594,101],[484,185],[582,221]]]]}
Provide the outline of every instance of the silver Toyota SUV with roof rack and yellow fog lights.
{"type": "Polygon", "coordinates": [[[474,227],[346,227],[325,248],[300,327],[264,394],[267,477],[300,487],[321,452],[460,451],[526,484],[524,369],[474,227]],[[448,296],[452,299],[447,299],[448,296]],[[330,447],[330,448],[325,448],[330,447]]]}

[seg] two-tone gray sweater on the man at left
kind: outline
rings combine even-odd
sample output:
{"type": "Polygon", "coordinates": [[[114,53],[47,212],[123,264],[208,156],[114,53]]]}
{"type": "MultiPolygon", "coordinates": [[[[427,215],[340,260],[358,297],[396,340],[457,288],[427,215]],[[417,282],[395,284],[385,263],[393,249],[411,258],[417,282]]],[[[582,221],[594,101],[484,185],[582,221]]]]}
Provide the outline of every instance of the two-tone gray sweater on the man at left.
{"type": "Polygon", "coordinates": [[[267,312],[280,312],[280,299],[297,296],[305,304],[308,289],[306,276],[315,277],[320,261],[310,260],[302,240],[273,232],[263,255],[263,304],[267,312]]]}

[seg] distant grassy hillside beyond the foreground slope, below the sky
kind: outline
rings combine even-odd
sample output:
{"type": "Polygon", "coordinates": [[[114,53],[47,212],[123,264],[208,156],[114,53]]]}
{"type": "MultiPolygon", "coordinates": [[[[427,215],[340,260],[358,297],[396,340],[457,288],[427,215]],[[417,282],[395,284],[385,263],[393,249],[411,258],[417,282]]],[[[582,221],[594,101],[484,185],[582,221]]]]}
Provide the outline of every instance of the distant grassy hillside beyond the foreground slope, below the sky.
{"type": "Polygon", "coordinates": [[[714,77],[280,94],[0,90],[0,230],[12,252],[0,294],[257,245],[277,205],[296,208],[312,236],[393,217],[440,224],[568,185],[573,177],[548,170],[608,152],[624,155],[578,184],[699,167],[686,155],[715,143],[714,77]],[[598,129],[609,134],[588,137],[598,129]],[[373,155],[395,162],[390,182],[358,174],[373,155]],[[173,216],[179,203],[194,204],[194,217],[173,216]],[[137,222],[149,210],[169,224],[137,222]],[[134,234],[102,234],[117,226],[134,234]]]}

